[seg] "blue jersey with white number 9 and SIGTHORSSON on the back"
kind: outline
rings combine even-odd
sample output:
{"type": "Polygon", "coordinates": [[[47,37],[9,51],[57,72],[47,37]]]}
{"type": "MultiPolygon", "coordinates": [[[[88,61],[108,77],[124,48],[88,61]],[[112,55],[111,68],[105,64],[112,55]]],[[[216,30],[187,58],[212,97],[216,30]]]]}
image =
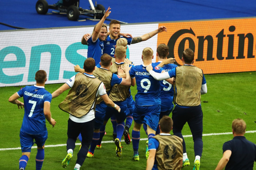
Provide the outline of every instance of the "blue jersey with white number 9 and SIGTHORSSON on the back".
{"type": "MultiPolygon", "coordinates": [[[[161,73],[163,69],[152,63],[153,70],[161,73]]],[[[144,65],[131,67],[131,78],[136,78],[137,94],[135,95],[135,104],[139,106],[160,105],[160,81],[155,80],[144,65]]]]}

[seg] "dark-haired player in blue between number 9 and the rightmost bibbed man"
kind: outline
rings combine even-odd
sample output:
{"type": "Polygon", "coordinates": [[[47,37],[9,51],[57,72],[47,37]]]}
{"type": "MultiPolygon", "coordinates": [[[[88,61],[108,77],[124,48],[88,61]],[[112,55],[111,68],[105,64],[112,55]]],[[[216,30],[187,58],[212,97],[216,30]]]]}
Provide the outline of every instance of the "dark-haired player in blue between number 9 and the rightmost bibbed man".
{"type": "MultiPolygon", "coordinates": [[[[169,55],[169,47],[166,44],[159,44],[157,47],[157,58],[158,58],[158,62],[156,62],[156,64],[158,64],[159,67],[162,67],[166,72],[178,67],[177,65],[173,64],[173,63],[169,63],[169,64],[163,64],[164,62],[166,62],[167,56],[169,55]]],[[[167,115],[169,116],[171,111],[173,111],[174,108],[174,104],[173,104],[173,95],[174,95],[174,91],[173,91],[173,85],[168,83],[166,80],[162,80],[160,83],[160,97],[161,97],[161,112],[160,112],[160,116],[159,116],[159,120],[164,116],[167,115]]],[[[147,129],[146,125],[143,125],[143,128],[147,129]]],[[[160,130],[159,127],[157,128],[157,131],[155,134],[159,134],[160,130]]]]}

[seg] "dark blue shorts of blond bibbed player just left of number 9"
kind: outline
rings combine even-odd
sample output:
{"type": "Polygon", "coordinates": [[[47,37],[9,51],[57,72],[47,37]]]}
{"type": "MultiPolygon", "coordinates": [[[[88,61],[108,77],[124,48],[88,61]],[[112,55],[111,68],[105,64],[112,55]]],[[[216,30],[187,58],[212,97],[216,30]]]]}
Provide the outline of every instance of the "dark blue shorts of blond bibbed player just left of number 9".
{"type": "Polygon", "coordinates": [[[114,108],[107,107],[106,109],[106,116],[105,116],[105,121],[109,120],[113,115],[117,119],[117,121],[125,121],[126,117],[129,115],[130,111],[127,108],[127,102],[114,102],[115,104],[119,105],[121,111],[120,113],[115,110],[114,108]]]}

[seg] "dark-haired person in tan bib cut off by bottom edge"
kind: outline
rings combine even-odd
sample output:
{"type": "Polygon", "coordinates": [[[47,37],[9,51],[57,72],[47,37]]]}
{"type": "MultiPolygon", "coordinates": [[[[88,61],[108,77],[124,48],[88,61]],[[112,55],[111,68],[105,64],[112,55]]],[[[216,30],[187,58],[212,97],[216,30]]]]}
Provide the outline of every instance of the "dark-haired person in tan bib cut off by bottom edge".
{"type": "Polygon", "coordinates": [[[173,120],[164,115],[159,121],[160,134],[149,140],[149,158],[146,170],[181,169],[183,146],[182,138],[170,135],[173,120]]]}

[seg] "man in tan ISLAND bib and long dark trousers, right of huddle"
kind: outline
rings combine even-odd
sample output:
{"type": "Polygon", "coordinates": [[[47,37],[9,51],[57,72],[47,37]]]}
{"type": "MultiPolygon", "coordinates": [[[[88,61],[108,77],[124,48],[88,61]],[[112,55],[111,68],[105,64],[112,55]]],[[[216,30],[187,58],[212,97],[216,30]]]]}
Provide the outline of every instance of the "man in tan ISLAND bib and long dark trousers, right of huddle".
{"type": "Polygon", "coordinates": [[[173,133],[183,139],[183,166],[188,166],[189,162],[186,153],[186,145],[182,136],[182,129],[185,123],[189,124],[193,141],[195,161],[194,168],[199,170],[200,158],[203,151],[203,113],[201,108],[201,94],[207,93],[207,86],[203,71],[193,66],[194,52],[186,49],[182,54],[183,66],[176,67],[166,73],[155,73],[152,67],[147,67],[150,75],[157,80],[174,77],[174,104],[173,110],[173,133]]]}

